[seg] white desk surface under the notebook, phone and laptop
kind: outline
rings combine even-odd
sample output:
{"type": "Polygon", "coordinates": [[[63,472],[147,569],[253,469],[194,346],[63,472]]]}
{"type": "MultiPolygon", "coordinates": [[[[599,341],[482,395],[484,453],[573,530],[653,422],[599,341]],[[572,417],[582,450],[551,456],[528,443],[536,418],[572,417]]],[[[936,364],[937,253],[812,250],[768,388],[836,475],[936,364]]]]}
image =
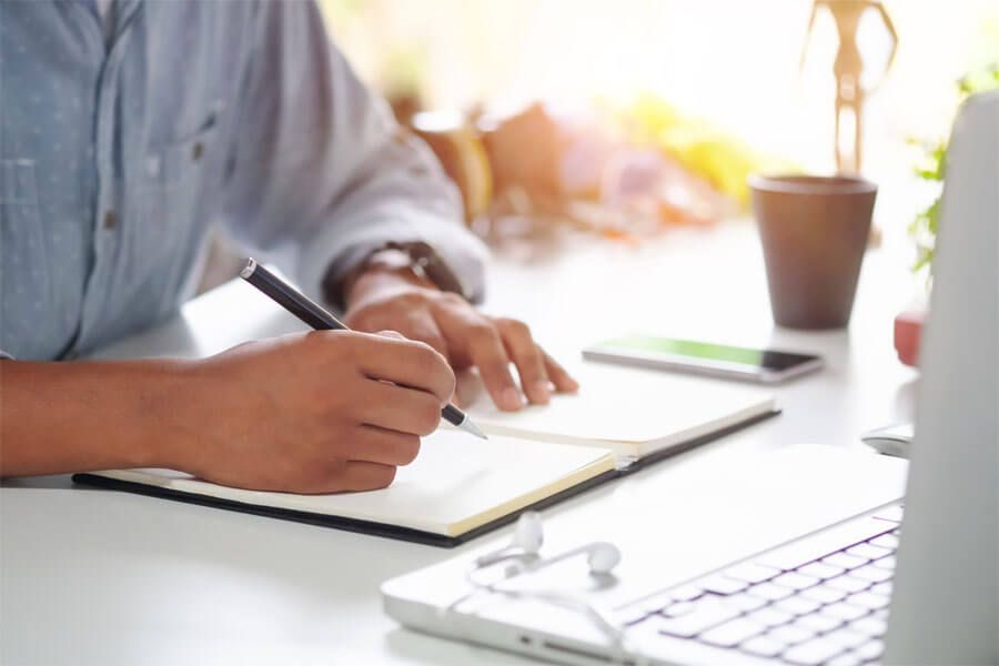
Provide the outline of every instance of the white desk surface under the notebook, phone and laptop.
{"type": "MultiPolygon", "coordinates": [[[[642,473],[657,483],[735,452],[800,442],[860,446],[860,431],[911,417],[917,374],[891,347],[891,319],[911,290],[901,261],[868,254],[849,331],[803,333],[773,329],[748,225],[677,232],[639,250],[579,245],[526,265],[498,259],[487,310],[525,319],[563,356],[576,357],[604,336],[644,330],[827,359],[821,374],[777,389],[780,417],[642,473]]],[[[296,327],[249,290],[220,287],[165,327],[104,355],[209,351],[238,335],[244,321],[296,327]],[[245,319],[238,312],[243,303],[253,310],[245,319]]],[[[546,515],[612,491],[597,488],[546,515]]],[[[381,612],[383,581],[453,554],[73,488],[68,477],[8,481],[0,490],[0,663],[523,663],[401,629],[381,612]]]]}

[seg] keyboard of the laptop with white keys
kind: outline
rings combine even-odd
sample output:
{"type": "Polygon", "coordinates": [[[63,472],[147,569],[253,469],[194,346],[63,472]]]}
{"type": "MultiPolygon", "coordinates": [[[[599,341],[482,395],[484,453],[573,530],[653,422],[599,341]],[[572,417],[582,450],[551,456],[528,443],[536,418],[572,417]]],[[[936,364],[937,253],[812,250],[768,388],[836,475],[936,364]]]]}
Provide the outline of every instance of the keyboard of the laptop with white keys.
{"type": "Polygon", "coordinates": [[[788,664],[877,663],[901,506],[836,525],[617,610],[626,632],[788,664]]]}

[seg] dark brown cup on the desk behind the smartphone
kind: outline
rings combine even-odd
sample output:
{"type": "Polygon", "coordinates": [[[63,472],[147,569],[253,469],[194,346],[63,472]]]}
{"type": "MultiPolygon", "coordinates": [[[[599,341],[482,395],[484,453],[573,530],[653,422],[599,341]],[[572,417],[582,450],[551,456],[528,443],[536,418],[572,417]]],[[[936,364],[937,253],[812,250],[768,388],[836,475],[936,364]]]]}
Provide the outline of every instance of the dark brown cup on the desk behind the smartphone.
{"type": "Polygon", "coordinates": [[[839,329],[850,321],[878,188],[848,176],[749,178],[774,321],[839,329]]]}

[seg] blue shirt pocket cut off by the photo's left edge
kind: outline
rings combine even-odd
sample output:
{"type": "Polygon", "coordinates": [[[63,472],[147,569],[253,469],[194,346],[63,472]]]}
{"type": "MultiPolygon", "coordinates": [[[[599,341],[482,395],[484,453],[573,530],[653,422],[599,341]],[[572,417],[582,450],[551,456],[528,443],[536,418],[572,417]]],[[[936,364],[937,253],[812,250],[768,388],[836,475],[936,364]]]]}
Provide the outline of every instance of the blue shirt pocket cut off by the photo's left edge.
{"type": "Polygon", "coordinates": [[[41,353],[51,300],[44,230],[33,160],[0,160],[0,349],[41,353]]]}

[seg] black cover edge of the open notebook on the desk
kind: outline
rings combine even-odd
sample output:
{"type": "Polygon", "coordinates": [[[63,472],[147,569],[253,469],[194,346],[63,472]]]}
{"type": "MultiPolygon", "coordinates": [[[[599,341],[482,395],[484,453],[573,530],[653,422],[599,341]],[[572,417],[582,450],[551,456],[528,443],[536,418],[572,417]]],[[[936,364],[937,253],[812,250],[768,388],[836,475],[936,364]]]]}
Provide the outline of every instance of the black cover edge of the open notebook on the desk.
{"type": "Polygon", "coordinates": [[[326,514],[315,514],[304,511],[295,511],[290,508],[274,508],[271,506],[260,506],[258,504],[246,504],[243,502],[235,502],[233,500],[221,500],[219,497],[209,497],[206,495],[199,495],[196,493],[183,493],[180,491],[174,491],[170,488],[163,488],[160,486],[148,485],[144,483],[135,483],[131,481],[121,481],[118,478],[109,478],[107,476],[98,476],[97,474],[74,474],[73,482],[83,484],[83,485],[92,485],[100,486],[104,488],[110,488],[114,491],[125,491],[129,493],[138,493],[140,495],[150,495],[152,497],[162,497],[164,500],[175,500],[179,502],[186,502],[190,504],[200,504],[202,506],[211,506],[214,508],[224,508],[228,511],[238,511],[241,513],[249,513],[258,516],[266,516],[270,518],[282,518],[285,521],[295,521],[297,523],[306,523],[309,525],[319,525],[322,527],[333,527],[335,529],[344,529],[346,532],[359,532],[361,534],[370,534],[373,536],[382,536],[386,538],[396,538],[401,541],[413,542],[417,544],[426,544],[428,546],[438,546],[444,548],[453,548],[461,544],[464,544],[473,538],[482,536],[483,534],[487,534],[493,532],[494,529],[498,529],[504,525],[508,525],[519,517],[519,515],[525,511],[538,511],[542,508],[546,508],[548,506],[553,506],[567,500],[569,497],[574,497],[579,493],[583,493],[592,487],[602,485],[607,481],[612,481],[619,476],[624,476],[630,474],[633,472],[637,472],[638,470],[644,468],[648,464],[656,463],[658,461],[665,460],[667,457],[672,457],[685,451],[689,451],[697,446],[702,446],[707,444],[708,442],[713,442],[718,440],[719,437],[724,437],[730,433],[734,433],[744,427],[748,427],[755,423],[769,418],[771,416],[776,416],[779,414],[779,411],[768,412],[766,414],[760,414],[758,416],[754,416],[740,423],[734,424],[729,427],[723,428],[720,431],[716,431],[714,433],[709,433],[702,437],[696,437],[690,440],[689,442],[684,442],[676,446],[670,446],[664,451],[659,451],[647,455],[640,460],[637,460],[624,468],[615,470],[610,472],[605,472],[593,478],[588,478],[582,483],[574,485],[571,488],[566,488],[561,493],[555,493],[554,495],[549,495],[545,497],[541,502],[535,502],[524,508],[509,513],[502,518],[496,518],[490,523],[481,525],[474,529],[470,529],[464,534],[458,536],[446,536],[443,534],[436,534],[433,532],[424,532],[422,529],[412,529],[410,527],[398,527],[395,525],[387,525],[385,523],[375,523],[372,521],[360,521],[356,518],[345,518],[341,516],[332,516],[326,514]]]}

